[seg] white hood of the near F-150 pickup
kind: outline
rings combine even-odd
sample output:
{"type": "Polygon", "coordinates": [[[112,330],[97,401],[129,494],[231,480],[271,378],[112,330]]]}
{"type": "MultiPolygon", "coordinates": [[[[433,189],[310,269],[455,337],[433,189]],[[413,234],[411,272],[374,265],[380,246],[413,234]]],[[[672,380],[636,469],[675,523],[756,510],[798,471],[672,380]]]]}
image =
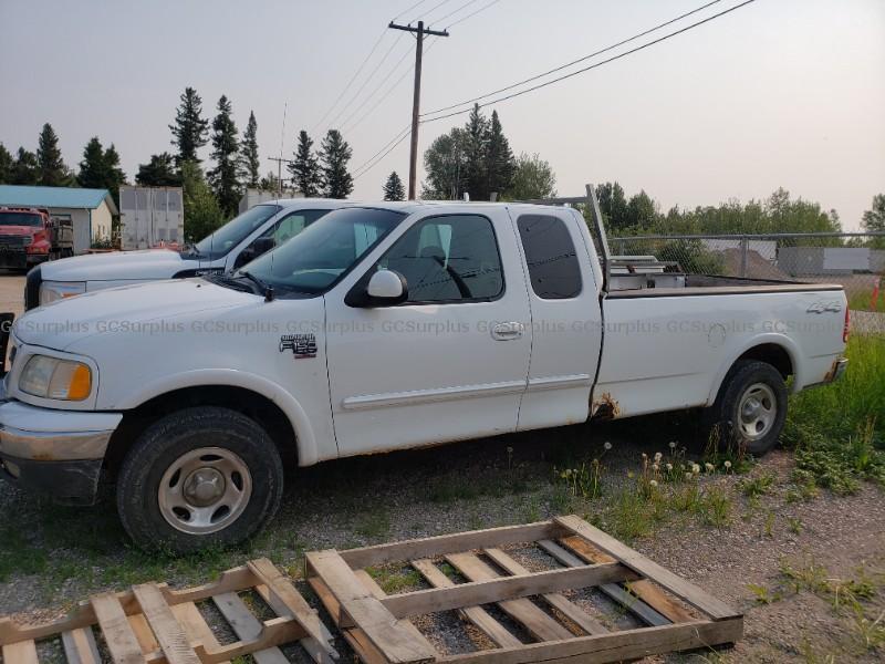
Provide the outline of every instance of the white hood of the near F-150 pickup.
{"type": "Polygon", "coordinates": [[[262,301],[259,295],[200,278],[152,281],[39,307],[15,322],[13,334],[27,344],[64,351],[96,334],[133,330],[148,334],[156,325],[164,332],[185,318],[262,301]]]}

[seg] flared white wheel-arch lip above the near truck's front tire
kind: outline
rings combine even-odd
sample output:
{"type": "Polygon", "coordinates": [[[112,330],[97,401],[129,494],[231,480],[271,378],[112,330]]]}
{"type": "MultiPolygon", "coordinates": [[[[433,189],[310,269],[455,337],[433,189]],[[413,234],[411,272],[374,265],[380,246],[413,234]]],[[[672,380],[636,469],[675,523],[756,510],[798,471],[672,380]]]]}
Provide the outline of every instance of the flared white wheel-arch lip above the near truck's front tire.
{"type": "Polygon", "coordinates": [[[140,386],[137,392],[128,394],[118,403],[108,406],[108,409],[127,411],[137,408],[152,398],[163,396],[169,392],[186,387],[201,387],[205,385],[242,387],[243,390],[249,390],[272,401],[285,414],[289,422],[292,424],[292,429],[295,432],[299,465],[309,466],[320,460],[316,436],[308,418],[308,414],[304,412],[301,404],[299,404],[289,392],[280,387],[280,385],[262,376],[244,371],[207,369],[164,376],[162,380],[140,386]]]}

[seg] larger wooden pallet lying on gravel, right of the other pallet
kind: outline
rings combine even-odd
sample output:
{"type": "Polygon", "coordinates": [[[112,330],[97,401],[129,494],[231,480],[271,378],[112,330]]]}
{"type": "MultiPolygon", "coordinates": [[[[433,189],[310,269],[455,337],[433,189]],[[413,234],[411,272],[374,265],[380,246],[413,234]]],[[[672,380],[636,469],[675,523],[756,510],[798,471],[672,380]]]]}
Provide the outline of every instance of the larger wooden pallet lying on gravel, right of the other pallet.
{"type": "Polygon", "coordinates": [[[308,553],[306,562],[309,582],[367,664],[618,662],[733,643],[743,634],[740,613],[574,516],[316,551],[308,553]],[[561,567],[531,573],[501,548],[525,542],[534,542],[561,567]],[[366,568],[393,561],[420,572],[430,588],[385,594],[366,568]],[[439,561],[466,581],[452,581],[437,567],[439,561]],[[644,626],[604,625],[563,594],[580,588],[605,593],[644,626]],[[485,606],[497,606],[530,639],[520,640],[485,606]],[[493,647],[442,654],[409,621],[452,610],[493,647]]]}

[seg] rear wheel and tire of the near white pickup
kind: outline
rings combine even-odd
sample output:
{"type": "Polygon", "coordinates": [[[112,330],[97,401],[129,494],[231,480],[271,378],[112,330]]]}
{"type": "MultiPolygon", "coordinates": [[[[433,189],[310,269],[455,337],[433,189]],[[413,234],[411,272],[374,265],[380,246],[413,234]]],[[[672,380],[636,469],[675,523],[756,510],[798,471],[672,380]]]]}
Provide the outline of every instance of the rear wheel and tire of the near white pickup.
{"type": "Polygon", "coordinates": [[[787,419],[787,385],[766,362],[739,360],[706,409],[704,432],[720,449],[741,447],[762,456],[777,444],[787,419]]]}

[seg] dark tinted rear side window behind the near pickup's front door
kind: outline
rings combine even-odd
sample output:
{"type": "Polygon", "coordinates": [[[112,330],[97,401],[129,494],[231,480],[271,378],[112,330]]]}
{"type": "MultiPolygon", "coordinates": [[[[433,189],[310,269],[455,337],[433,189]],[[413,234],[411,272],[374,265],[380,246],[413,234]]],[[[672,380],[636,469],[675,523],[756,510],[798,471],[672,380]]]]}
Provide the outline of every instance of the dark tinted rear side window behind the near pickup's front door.
{"type": "Polygon", "coordinates": [[[581,266],[565,222],[558,217],[523,215],[517,220],[534,294],[544,300],[581,292],[581,266]]]}

